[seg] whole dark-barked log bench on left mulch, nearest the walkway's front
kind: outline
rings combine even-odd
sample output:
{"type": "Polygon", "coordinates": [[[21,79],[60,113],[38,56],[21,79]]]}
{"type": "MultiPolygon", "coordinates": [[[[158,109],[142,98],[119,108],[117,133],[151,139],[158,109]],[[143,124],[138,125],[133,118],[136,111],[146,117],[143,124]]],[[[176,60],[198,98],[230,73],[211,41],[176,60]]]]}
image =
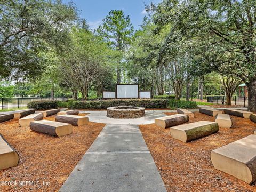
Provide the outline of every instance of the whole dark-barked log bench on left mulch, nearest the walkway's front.
{"type": "Polygon", "coordinates": [[[29,126],[30,129],[33,131],[46,133],[58,137],[71,134],[73,132],[73,126],[71,124],[54,122],[49,120],[30,122],[29,126]]]}

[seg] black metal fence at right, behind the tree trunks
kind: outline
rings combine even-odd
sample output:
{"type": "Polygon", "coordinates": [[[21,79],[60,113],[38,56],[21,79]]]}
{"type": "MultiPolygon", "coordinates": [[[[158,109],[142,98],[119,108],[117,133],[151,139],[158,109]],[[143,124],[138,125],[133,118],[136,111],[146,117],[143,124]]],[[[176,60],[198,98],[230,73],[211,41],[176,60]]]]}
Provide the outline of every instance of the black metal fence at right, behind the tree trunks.
{"type": "MultiPolygon", "coordinates": [[[[207,102],[225,105],[227,103],[227,97],[226,96],[207,96],[207,102]]],[[[241,106],[247,107],[247,103],[248,103],[247,97],[234,96],[231,98],[231,105],[241,105],[241,106]]]]}

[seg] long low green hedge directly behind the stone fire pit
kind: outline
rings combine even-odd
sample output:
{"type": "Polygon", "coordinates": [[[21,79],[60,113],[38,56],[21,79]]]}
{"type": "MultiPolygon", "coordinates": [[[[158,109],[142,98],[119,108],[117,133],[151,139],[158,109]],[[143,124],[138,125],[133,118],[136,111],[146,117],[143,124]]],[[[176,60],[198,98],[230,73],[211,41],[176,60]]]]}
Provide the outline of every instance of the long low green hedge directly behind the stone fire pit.
{"type": "Polygon", "coordinates": [[[71,109],[106,109],[115,106],[137,106],[145,108],[166,108],[167,99],[108,99],[93,101],[74,101],[71,109]]]}

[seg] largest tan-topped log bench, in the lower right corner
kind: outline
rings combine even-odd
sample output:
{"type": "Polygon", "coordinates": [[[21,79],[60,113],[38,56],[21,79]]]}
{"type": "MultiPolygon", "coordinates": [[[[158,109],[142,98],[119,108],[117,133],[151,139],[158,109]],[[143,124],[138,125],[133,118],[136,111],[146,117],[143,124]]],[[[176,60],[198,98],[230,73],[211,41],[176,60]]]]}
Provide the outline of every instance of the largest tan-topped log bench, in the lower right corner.
{"type": "Polygon", "coordinates": [[[256,180],[256,135],[249,135],[211,152],[215,169],[249,184],[256,180]]]}

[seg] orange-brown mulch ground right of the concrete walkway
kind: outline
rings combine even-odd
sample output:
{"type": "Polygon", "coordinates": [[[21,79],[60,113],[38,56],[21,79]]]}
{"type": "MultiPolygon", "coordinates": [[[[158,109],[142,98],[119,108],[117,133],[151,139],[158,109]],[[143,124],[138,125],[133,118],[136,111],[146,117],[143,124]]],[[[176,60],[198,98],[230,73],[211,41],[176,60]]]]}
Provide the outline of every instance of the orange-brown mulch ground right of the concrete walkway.
{"type": "MultiPolygon", "coordinates": [[[[165,113],[173,115],[175,113],[165,113]]],[[[170,129],[140,125],[140,130],[163,178],[167,191],[256,191],[256,185],[215,170],[210,159],[213,149],[253,134],[256,124],[250,119],[231,116],[233,127],[220,128],[216,134],[184,143],[171,137],[170,129]]],[[[197,121],[214,117],[195,113],[197,121]]]]}

